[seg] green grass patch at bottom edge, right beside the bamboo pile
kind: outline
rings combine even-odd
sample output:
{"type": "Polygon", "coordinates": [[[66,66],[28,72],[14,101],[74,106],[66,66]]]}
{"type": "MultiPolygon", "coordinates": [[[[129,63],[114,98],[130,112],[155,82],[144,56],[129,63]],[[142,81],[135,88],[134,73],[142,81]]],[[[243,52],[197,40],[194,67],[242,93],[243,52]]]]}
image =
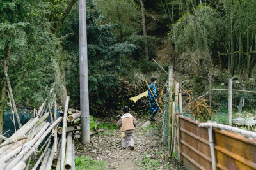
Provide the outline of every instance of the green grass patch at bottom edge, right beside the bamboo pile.
{"type": "Polygon", "coordinates": [[[93,160],[89,156],[84,157],[84,155],[81,157],[75,157],[75,164],[76,164],[76,170],[82,170],[82,169],[105,170],[105,169],[108,169],[106,167],[106,162],[99,161],[99,160],[93,160]]]}

